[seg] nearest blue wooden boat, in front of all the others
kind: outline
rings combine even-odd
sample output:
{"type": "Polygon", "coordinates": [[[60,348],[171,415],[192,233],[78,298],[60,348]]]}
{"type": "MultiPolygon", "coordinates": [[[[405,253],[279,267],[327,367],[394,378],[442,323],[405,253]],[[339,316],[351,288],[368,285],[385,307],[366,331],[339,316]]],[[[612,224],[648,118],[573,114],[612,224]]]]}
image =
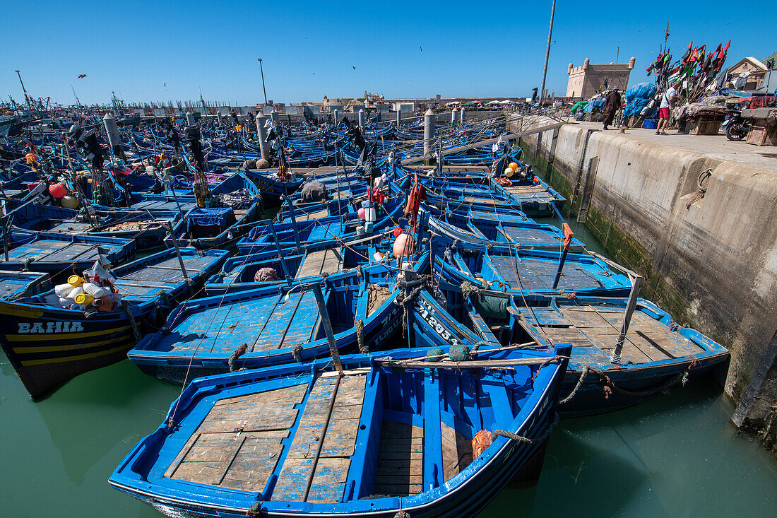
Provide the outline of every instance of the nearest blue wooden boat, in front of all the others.
{"type": "Polygon", "coordinates": [[[570,348],[427,348],[195,380],[110,484],[168,516],[474,516],[538,476],[570,348]]]}

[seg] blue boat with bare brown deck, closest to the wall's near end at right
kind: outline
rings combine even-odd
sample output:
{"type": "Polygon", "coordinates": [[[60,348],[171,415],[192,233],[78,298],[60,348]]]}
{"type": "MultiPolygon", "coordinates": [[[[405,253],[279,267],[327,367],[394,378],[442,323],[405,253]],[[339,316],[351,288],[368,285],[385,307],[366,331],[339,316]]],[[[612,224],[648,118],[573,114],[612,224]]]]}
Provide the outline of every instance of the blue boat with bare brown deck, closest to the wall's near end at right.
{"type": "MultiPolygon", "coordinates": [[[[655,304],[637,299],[636,292],[633,303],[626,297],[517,296],[493,290],[462,296],[458,286],[441,282],[441,293],[451,315],[448,329],[460,327],[455,339],[461,343],[472,344],[469,331],[493,345],[538,351],[570,342],[562,394],[567,401],[559,407],[567,417],[639,404],[711,373],[729,358],[722,345],[681,327],[655,304]]],[[[430,297],[420,303],[444,313],[430,297]]]]}

